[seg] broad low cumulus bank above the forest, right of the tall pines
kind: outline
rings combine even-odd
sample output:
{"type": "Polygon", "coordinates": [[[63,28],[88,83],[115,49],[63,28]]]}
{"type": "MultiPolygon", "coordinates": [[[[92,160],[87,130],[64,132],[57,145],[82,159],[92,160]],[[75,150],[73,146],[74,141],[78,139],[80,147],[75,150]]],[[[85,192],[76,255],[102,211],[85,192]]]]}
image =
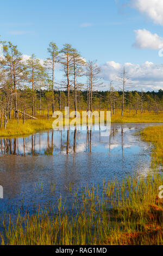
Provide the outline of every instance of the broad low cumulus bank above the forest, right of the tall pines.
{"type": "Polygon", "coordinates": [[[114,81],[120,84],[119,76],[125,66],[129,77],[130,89],[159,90],[163,89],[163,64],[145,62],[142,64],[106,62],[101,66],[101,74],[105,82],[114,81]]]}

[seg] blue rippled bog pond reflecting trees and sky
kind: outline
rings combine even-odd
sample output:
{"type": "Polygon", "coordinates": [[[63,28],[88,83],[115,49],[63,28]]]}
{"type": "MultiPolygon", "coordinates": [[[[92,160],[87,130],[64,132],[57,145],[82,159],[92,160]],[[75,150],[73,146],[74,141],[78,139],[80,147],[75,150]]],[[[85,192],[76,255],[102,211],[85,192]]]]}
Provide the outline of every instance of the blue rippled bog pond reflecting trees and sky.
{"type": "Polygon", "coordinates": [[[33,213],[39,205],[55,204],[60,194],[71,207],[70,185],[80,193],[92,184],[101,190],[104,179],[146,175],[151,149],[135,133],[148,125],[155,124],[112,124],[109,137],[75,129],[1,139],[0,215],[20,207],[33,213]]]}

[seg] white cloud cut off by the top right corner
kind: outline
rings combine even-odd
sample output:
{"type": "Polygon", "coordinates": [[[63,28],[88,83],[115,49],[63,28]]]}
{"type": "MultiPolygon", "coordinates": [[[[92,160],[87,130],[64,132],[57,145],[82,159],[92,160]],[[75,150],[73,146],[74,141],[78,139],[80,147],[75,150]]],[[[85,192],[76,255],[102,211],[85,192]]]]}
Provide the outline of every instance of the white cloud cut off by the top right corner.
{"type": "Polygon", "coordinates": [[[145,14],[156,24],[163,26],[163,1],[162,0],[130,0],[131,5],[140,13],[145,14]]]}

